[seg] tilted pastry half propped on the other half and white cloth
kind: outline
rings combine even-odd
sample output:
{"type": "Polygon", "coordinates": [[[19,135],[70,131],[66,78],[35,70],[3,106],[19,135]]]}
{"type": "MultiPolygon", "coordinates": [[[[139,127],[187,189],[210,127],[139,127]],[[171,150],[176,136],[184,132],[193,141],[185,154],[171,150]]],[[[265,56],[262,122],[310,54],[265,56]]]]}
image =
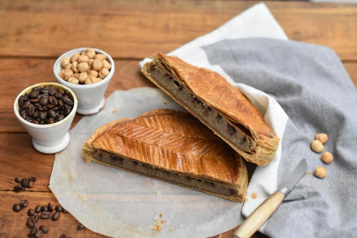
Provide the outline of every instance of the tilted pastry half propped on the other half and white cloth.
{"type": "Polygon", "coordinates": [[[272,161],[280,138],[243,94],[217,72],[157,53],[141,72],[247,161],[272,161]]]}

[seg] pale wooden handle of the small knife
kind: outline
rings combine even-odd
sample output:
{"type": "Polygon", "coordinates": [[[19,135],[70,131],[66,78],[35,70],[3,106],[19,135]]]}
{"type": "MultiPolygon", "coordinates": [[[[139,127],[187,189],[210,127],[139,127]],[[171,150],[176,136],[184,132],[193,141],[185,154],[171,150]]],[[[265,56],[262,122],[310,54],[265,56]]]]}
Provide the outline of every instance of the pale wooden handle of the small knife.
{"type": "Polygon", "coordinates": [[[275,212],[285,196],[280,191],[275,191],[262,204],[260,204],[250,216],[233,233],[234,238],[251,237],[266,220],[275,212]]]}

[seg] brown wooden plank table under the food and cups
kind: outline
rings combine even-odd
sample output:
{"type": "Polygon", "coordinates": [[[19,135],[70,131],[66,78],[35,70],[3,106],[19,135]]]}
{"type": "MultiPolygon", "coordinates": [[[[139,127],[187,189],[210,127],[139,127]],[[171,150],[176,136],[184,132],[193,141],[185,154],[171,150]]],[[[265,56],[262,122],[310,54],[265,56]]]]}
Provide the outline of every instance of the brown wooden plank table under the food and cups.
{"type": "MultiPolygon", "coordinates": [[[[12,211],[19,198],[58,204],[47,187],[54,155],[32,148],[31,138],[14,116],[16,95],[34,83],[55,82],[56,57],[77,47],[96,47],[115,59],[114,90],[154,85],[139,71],[138,61],[154,52],[169,52],[210,32],[256,4],[232,0],[1,0],[0,1],[0,237],[26,237],[27,209],[12,211]],[[32,189],[12,192],[15,177],[34,176],[32,189]]],[[[310,2],[266,2],[291,40],[332,47],[357,84],[357,6],[310,2]]],[[[72,124],[80,120],[76,116],[72,124]]],[[[79,224],[70,214],[44,221],[47,237],[104,237],[79,224]]],[[[212,236],[215,234],[212,234],[212,236]]],[[[216,236],[218,237],[218,235],[216,236]]],[[[232,237],[232,231],[222,234],[232,237]]],[[[255,237],[265,237],[257,233],[255,237]]]]}

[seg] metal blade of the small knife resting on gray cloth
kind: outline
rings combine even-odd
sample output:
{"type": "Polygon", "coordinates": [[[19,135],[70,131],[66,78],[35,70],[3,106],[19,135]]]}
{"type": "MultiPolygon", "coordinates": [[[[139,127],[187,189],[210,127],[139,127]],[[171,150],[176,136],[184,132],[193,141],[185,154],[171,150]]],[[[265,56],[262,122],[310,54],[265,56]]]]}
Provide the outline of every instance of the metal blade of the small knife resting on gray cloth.
{"type": "Polygon", "coordinates": [[[307,170],[306,159],[301,159],[300,163],[294,168],[294,170],[288,174],[284,181],[281,183],[278,190],[284,193],[285,197],[290,193],[291,189],[300,181],[307,170]]]}

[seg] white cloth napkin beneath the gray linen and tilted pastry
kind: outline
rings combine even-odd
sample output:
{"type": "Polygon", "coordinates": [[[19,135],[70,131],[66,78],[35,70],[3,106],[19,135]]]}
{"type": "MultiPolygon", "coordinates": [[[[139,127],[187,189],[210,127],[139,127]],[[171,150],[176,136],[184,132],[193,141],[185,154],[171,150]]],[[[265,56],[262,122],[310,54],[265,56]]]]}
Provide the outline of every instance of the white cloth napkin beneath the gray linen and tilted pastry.
{"type": "MultiPolygon", "coordinates": [[[[285,32],[277,23],[267,6],[260,3],[253,5],[251,8],[232,18],[230,21],[212,32],[200,36],[166,54],[176,55],[189,64],[205,67],[221,74],[228,82],[239,88],[241,92],[253,102],[264,115],[266,123],[270,125],[277,136],[282,139],[288,116],[277,101],[262,91],[241,83],[236,83],[220,66],[211,65],[205,51],[201,48],[226,39],[242,39],[250,37],[288,40],[285,32]]],[[[150,60],[150,58],[145,58],[140,61],[140,67],[150,60]]],[[[272,163],[265,167],[256,168],[248,186],[248,201],[245,202],[243,206],[243,216],[249,216],[259,204],[277,189],[277,171],[280,156],[281,142],[272,163]],[[251,197],[252,193],[256,193],[258,197],[253,199],[251,197]]],[[[264,233],[264,226],[265,225],[259,229],[262,233],[264,233]]]]}

